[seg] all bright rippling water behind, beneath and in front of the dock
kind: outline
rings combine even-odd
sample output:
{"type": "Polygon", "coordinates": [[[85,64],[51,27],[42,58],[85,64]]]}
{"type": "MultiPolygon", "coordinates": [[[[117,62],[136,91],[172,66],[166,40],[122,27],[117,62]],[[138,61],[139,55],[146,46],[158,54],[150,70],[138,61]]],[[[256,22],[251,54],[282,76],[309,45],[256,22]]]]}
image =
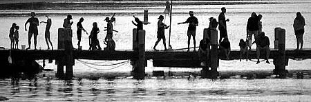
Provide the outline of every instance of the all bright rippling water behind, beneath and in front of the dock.
{"type": "MultiPolygon", "coordinates": [[[[217,1],[216,1],[217,2],[217,1]]],[[[196,5],[185,6],[180,3],[173,6],[173,20],[172,20],[172,35],[171,45],[173,48],[186,48],[187,47],[187,25],[177,25],[178,22],[183,22],[189,17],[189,10],[195,12],[198,18],[199,26],[197,28],[196,41],[202,38],[203,28],[208,26],[209,17],[218,17],[220,8],[225,6],[227,8],[226,17],[230,19],[227,23],[229,41],[232,43],[232,49],[238,49],[238,41],[245,39],[245,28],[248,17],[252,12],[263,14],[263,31],[270,37],[271,48],[274,48],[274,28],[281,27],[286,30],[286,48],[296,48],[296,39],[292,23],[296,12],[300,11],[306,20],[305,26],[305,48],[311,48],[310,23],[311,21],[311,8],[310,1],[264,1],[267,3],[230,3],[232,1],[224,1],[224,3],[209,5],[203,3],[196,5]],[[277,3],[274,3],[277,2],[277,3]],[[283,3],[284,2],[284,3],[283,3]],[[230,3],[225,5],[226,3],[230,3]]],[[[233,1],[234,2],[234,1],[233,1]]],[[[258,2],[258,1],[257,1],[258,2]]],[[[87,4],[87,3],[85,3],[87,4]]],[[[111,17],[113,12],[116,12],[115,18],[117,19],[114,24],[114,29],[118,33],[114,33],[113,37],[116,41],[116,50],[131,50],[132,42],[132,29],[135,28],[131,21],[132,15],[143,19],[143,10],[149,10],[149,22],[151,24],[145,25],[146,30],[146,49],[151,50],[153,44],[156,42],[156,22],[158,16],[164,11],[164,5],[151,4],[147,6],[136,6],[137,3],[130,3],[129,6],[108,8],[103,7],[95,10],[89,8],[75,8],[70,6],[64,9],[40,9],[40,10],[1,10],[0,16],[0,46],[10,48],[10,39],[8,38],[8,31],[13,22],[21,26],[19,30],[19,45],[27,44],[27,32],[24,31],[23,25],[28,19],[30,11],[37,12],[39,21],[46,21],[45,14],[53,20],[51,27],[51,40],[54,48],[57,48],[57,29],[62,27],[62,23],[66,14],[73,14],[73,45],[77,48],[77,37],[75,35],[76,23],[79,17],[84,17],[82,23],[84,28],[91,32],[92,23],[97,22],[100,28],[98,36],[100,45],[102,43],[106,32],[103,31],[106,22],[105,17],[111,17]],[[75,8],[75,9],[70,9],[75,8]]],[[[83,5],[82,5],[83,6],[83,5]]],[[[165,23],[169,24],[168,16],[166,16],[165,23]]],[[[41,47],[42,50],[46,49],[44,41],[45,24],[39,26],[39,36],[37,48],[41,47]]],[[[168,30],[166,37],[168,39],[168,30]]],[[[88,37],[82,34],[82,46],[84,50],[88,49],[88,37]]],[[[164,49],[161,44],[158,49],[164,49]]],[[[191,41],[192,43],[192,41],[191,41]]],[[[191,44],[192,46],[192,44],[191,44]]],[[[32,43],[33,48],[33,43],[32,43]]],[[[252,79],[247,80],[245,77],[234,79],[216,80],[200,79],[191,77],[187,78],[188,74],[185,72],[199,72],[200,68],[156,68],[152,66],[152,61],[148,61],[146,68],[147,73],[153,70],[164,70],[164,72],[176,72],[181,75],[156,78],[148,77],[145,80],[137,81],[131,79],[129,72],[131,65],[126,62],[124,65],[118,66],[96,66],[84,65],[82,61],[97,64],[113,64],[122,61],[91,61],[81,60],[75,61],[74,74],[76,79],[72,82],[66,82],[55,79],[55,72],[43,72],[38,74],[37,86],[34,81],[21,80],[19,85],[11,85],[10,79],[0,80],[0,96],[7,97],[8,101],[310,101],[311,85],[310,76],[305,76],[306,79],[295,79],[289,77],[287,79],[252,79]],[[107,70],[112,69],[112,70],[107,70]],[[113,79],[104,79],[109,76],[117,76],[113,79]],[[43,77],[43,74],[51,77],[50,80],[43,77]],[[93,78],[100,77],[99,80],[94,81],[93,78]],[[82,78],[78,81],[77,78],[82,78]],[[32,83],[32,85],[29,85],[32,83]],[[82,83],[82,84],[80,84],[82,83]]],[[[37,61],[42,65],[42,61],[37,61]]],[[[225,72],[272,72],[274,65],[259,63],[255,64],[253,61],[220,61],[218,70],[220,74],[225,72]]],[[[303,61],[290,60],[289,65],[286,67],[290,72],[292,70],[311,70],[309,64],[310,59],[303,61]]],[[[55,62],[46,63],[48,69],[56,70],[55,62]]]]}

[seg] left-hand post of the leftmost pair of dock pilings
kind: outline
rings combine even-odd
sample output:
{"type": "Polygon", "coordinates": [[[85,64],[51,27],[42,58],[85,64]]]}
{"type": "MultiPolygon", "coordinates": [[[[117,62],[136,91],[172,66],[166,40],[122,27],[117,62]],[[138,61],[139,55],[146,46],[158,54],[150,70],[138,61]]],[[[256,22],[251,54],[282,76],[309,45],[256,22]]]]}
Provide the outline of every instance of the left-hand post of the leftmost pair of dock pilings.
{"type": "MultiPolygon", "coordinates": [[[[64,50],[64,28],[59,28],[58,29],[58,45],[57,45],[58,50],[64,50]]],[[[64,78],[64,58],[57,58],[56,64],[57,64],[57,72],[56,76],[59,79],[64,78]]]]}

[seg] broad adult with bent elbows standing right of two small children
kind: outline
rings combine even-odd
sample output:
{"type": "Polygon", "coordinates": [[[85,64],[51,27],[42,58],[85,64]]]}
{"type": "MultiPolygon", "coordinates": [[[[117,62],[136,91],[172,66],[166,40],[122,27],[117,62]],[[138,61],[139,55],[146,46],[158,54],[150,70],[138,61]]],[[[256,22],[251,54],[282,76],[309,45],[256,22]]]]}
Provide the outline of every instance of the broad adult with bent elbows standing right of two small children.
{"type": "Polygon", "coordinates": [[[39,19],[35,17],[36,16],[35,12],[31,12],[30,15],[31,15],[31,17],[25,23],[25,31],[27,31],[26,26],[27,26],[27,23],[29,23],[29,31],[28,31],[28,45],[29,45],[29,47],[26,48],[26,50],[30,49],[32,34],[34,35],[33,39],[34,39],[34,43],[35,43],[35,50],[37,50],[37,36],[38,36],[38,27],[37,26],[39,26],[39,19]]]}

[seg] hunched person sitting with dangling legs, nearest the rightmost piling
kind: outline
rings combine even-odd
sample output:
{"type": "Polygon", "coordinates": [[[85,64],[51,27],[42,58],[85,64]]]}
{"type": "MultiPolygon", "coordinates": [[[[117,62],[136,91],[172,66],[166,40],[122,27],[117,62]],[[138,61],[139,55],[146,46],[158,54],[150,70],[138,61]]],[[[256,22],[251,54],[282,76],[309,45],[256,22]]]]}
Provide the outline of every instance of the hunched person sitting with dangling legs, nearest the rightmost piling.
{"type": "Polygon", "coordinates": [[[265,32],[261,32],[256,39],[256,46],[257,46],[257,48],[256,48],[257,63],[256,64],[260,63],[259,57],[261,54],[261,50],[265,50],[267,52],[266,58],[265,58],[267,61],[265,61],[265,62],[270,64],[270,62],[268,60],[269,55],[270,55],[269,45],[270,45],[269,38],[267,36],[265,36],[265,32]]]}

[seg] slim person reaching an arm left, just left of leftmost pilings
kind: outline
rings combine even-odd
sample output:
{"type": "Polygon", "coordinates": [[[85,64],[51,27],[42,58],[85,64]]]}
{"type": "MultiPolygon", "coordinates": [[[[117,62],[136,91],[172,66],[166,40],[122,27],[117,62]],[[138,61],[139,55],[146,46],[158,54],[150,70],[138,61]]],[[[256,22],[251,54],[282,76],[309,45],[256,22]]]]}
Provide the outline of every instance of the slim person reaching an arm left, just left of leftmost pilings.
{"type": "MultiPolygon", "coordinates": [[[[41,21],[40,23],[46,23],[46,32],[45,32],[45,38],[46,38],[46,45],[50,42],[50,46],[52,47],[53,50],[53,44],[50,41],[50,26],[52,26],[52,19],[48,18],[46,16],[47,20],[46,21],[41,21]]],[[[48,50],[50,50],[50,46],[48,45],[48,50]]]]}

